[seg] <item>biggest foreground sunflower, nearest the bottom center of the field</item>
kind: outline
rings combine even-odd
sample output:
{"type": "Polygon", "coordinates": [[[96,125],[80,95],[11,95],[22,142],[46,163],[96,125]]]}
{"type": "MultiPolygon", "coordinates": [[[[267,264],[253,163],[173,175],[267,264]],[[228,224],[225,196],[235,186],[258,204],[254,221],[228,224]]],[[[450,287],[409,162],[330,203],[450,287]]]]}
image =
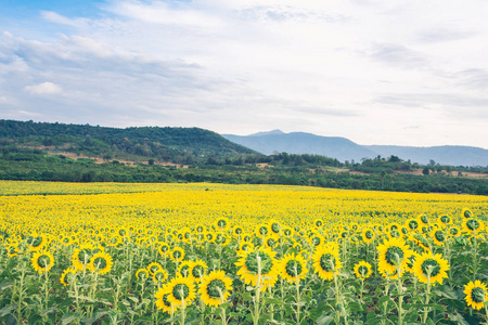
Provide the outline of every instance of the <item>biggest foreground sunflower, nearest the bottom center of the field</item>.
{"type": "Polygon", "coordinates": [[[268,287],[274,286],[278,280],[277,260],[274,256],[275,251],[272,251],[269,247],[255,248],[247,251],[243,251],[241,259],[237,260],[235,265],[240,268],[237,275],[241,276],[247,285],[256,286],[258,283],[258,268],[261,268],[261,278],[259,285],[261,290],[266,290],[268,287]]]}

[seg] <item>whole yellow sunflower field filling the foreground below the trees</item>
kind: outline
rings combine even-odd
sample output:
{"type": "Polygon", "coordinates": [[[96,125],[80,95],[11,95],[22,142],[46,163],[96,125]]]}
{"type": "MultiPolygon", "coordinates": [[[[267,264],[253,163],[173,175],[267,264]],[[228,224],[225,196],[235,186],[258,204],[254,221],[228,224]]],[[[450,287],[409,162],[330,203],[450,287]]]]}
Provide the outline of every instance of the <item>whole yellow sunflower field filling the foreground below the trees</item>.
{"type": "Polygon", "coordinates": [[[488,324],[485,196],[0,181],[0,324],[488,324]]]}

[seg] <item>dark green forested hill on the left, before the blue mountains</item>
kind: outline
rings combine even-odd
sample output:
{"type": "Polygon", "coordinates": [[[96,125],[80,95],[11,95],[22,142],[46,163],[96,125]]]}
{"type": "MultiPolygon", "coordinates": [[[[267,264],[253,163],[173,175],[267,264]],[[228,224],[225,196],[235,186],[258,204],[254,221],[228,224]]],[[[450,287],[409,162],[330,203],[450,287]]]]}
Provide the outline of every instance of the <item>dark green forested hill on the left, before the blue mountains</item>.
{"type": "Polygon", "coordinates": [[[227,157],[255,154],[218,133],[198,128],[105,128],[0,120],[1,146],[28,146],[95,157],[134,159],[155,158],[184,162],[200,157],[227,157]]]}

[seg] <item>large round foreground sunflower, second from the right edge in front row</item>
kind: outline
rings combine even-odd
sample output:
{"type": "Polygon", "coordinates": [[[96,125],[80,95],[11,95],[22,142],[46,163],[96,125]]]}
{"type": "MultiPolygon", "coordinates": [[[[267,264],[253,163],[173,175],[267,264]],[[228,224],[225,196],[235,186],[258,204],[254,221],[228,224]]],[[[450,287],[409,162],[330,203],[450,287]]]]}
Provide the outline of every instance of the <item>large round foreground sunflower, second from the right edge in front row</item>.
{"type": "Polygon", "coordinates": [[[442,278],[448,278],[446,271],[449,270],[448,261],[440,253],[433,255],[424,252],[413,262],[412,273],[421,283],[428,283],[428,272],[431,272],[431,284],[442,284],[442,278]]]}

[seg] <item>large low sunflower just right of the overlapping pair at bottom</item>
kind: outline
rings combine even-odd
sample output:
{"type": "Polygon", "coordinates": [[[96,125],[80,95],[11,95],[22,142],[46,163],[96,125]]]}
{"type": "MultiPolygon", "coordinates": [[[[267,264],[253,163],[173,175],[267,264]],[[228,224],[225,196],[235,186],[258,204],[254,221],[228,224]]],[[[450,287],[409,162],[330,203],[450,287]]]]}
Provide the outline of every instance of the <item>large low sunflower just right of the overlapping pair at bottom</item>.
{"type": "Polygon", "coordinates": [[[211,271],[203,278],[198,294],[206,306],[218,307],[229,299],[231,290],[232,280],[226,276],[226,272],[211,271]]]}

